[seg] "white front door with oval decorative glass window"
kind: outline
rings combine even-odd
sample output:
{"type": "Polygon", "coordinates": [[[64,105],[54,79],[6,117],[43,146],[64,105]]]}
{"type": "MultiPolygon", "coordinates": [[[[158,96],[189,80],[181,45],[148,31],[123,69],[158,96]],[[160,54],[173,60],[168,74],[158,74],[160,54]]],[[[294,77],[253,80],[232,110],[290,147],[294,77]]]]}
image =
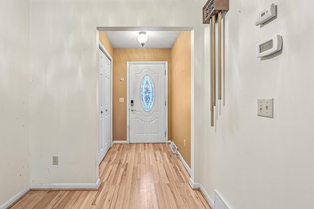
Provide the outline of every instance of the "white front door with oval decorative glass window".
{"type": "Polygon", "coordinates": [[[130,143],[166,139],[166,64],[130,64],[130,143]]]}

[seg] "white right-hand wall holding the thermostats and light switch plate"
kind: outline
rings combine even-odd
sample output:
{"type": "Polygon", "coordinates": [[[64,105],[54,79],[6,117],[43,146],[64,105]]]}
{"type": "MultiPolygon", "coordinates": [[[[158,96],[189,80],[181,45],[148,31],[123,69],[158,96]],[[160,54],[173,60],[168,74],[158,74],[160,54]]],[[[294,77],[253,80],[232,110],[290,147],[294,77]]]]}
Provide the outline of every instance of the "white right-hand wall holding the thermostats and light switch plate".
{"type": "MultiPolygon", "coordinates": [[[[214,128],[209,98],[204,100],[200,183],[212,199],[218,189],[233,209],[313,208],[312,6],[309,0],[297,6],[287,0],[230,0],[225,99],[217,103],[214,128]],[[255,26],[256,15],[272,2],[278,18],[255,26]],[[256,58],[256,44],[275,34],[283,37],[282,53],[256,58]],[[274,98],[274,118],[257,116],[257,98],[274,98]]],[[[208,78],[209,71],[205,84],[208,78]]],[[[209,95],[208,83],[203,94],[209,95]]]]}

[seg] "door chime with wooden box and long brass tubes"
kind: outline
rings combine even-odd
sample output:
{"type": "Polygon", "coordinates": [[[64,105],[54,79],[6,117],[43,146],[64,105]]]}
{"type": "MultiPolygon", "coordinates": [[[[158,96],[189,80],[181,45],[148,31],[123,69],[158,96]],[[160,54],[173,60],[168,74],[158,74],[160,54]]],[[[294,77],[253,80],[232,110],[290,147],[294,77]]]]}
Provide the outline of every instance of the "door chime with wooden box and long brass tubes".
{"type": "Polygon", "coordinates": [[[218,99],[221,100],[221,15],[229,10],[229,0],[208,0],[203,7],[203,24],[210,24],[210,125],[214,126],[216,106],[216,16],[218,19],[218,99]]]}

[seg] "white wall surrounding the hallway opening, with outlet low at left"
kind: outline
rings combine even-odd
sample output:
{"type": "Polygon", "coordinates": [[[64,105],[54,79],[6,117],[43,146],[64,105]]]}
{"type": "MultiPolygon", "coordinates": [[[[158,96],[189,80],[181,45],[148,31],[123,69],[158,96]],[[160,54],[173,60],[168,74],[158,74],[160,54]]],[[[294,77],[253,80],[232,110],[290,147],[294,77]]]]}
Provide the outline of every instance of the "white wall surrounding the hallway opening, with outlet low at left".
{"type": "MultiPolygon", "coordinates": [[[[31,184],[98,179],[96,27],[194,26],[194,88],[199,92],[201,8],[198,0],[30,1],[31,184]],[[54,155],[58,166],[52,166],[54,155]]],[[[195,109],[199,139],[199,102],[195,109]]],[[[199,158],[192,167],[195,162],[199,158]]]]}

